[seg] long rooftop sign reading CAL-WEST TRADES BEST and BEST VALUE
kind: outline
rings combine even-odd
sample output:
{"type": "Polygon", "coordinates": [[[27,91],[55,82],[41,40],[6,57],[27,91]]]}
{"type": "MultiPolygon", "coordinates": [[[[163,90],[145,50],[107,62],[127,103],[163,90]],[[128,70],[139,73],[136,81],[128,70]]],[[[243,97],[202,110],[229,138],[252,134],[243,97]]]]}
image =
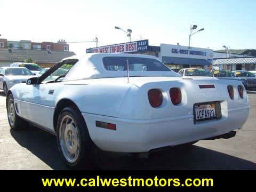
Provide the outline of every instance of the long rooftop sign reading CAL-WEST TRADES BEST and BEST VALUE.
{"type": "Polygon", "coordinates": [[[108,45],[108,46],[101,46],[101,47],[86,49],[86,53],[127,53],[127,52],[145,52],[145,51],[148,51],[148,39],[136,41],[136,42],[129,42],[129,43],[122,43],[122,44],[115,44],[115,45],[108,45]]]}

